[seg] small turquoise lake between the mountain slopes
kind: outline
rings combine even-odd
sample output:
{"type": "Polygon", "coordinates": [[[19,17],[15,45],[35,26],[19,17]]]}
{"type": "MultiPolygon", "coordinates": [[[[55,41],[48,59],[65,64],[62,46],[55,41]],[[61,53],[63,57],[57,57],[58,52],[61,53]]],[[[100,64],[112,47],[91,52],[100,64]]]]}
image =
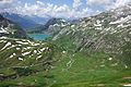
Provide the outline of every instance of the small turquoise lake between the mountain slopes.
{"type": "Polygon", "coordinates": [[[46,38],[49,37],[49,35],[46,34],[28,34],[28,36],[34,40],[45,40],[46,38]]]}

